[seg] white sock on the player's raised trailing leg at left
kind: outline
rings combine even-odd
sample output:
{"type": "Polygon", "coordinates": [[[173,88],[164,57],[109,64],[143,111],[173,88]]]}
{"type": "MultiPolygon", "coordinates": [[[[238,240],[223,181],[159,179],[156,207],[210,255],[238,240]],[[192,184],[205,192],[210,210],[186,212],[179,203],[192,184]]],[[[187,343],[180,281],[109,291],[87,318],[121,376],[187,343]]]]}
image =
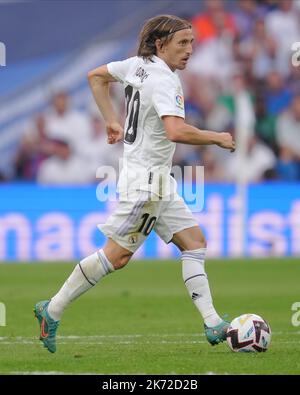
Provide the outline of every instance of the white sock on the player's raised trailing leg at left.
{"type": "Polygon", "coordinates": [[[83,259],[71,273],[70,277],[51,298],[48,313],[55,321],[60,320],[64,309],[107,274],[113,272],[113,265],[106,258],[104,251],[99,250],[83,259]]]}

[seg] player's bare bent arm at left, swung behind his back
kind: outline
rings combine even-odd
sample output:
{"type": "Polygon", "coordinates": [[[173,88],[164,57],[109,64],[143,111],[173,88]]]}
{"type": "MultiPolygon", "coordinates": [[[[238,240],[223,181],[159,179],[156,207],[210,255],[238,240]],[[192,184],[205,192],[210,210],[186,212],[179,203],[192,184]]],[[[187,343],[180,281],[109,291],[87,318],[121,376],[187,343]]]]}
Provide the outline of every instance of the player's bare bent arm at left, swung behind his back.
{"type": "Polygon", "coordinates": [[[106,124],[108,143],[114,144],[123,139],[123,128],[119,124],[109,95],[109,84],[117,80],[109,74],[107,66],[103,65],[89,71],[88,81],[106,124]]]}

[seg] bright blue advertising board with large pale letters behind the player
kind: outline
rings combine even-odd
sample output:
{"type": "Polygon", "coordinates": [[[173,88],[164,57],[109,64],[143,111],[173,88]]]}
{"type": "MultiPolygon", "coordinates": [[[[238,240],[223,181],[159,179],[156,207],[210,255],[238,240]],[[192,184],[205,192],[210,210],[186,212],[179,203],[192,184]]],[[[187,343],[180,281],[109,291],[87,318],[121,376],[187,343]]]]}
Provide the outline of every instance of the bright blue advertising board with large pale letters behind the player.
{"type": "MultiPolygon", "coordinates": [[[[72,260],[92,253],[104,236],[97,229],[114,204],[101,203],[95,187],[1,186],[0,259],[72,260]]],[[[299,185],[249,187],[247,241],[240,239],[236,188],[207,185],[204,210],[195,213],[211,257],[299,256],[299,185]]],[[[151,233],[136,257],[175,257],[175,247],[151,233]]]]}

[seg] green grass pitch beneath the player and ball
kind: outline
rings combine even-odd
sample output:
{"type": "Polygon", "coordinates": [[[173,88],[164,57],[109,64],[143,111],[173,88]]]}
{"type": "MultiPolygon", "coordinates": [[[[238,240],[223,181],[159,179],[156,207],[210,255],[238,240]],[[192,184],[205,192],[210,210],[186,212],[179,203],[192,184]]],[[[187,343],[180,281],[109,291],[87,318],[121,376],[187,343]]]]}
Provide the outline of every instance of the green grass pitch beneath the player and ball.
{"type": "Polygon", "coordinates": [[[263,316],[272,328],[270,349],[233,353],[212,347],[188,297],[180,261],[133,261],[74,302],[50,354],[38,340],[36,301],[49,298],[73,264],[1,264],[0,373],[299,374],[300,326],[291,306],[300,302],[296,260],[208,261],[215,307],[234,318],[263,316]]]}

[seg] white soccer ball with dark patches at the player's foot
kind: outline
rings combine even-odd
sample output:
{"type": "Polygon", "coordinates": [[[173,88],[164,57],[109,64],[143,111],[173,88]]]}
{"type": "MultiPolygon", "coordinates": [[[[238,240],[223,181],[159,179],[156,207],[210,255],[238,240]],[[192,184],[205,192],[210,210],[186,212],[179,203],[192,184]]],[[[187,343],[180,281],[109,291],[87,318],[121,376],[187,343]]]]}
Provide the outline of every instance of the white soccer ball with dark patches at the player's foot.
{"type": "Polygon", "coordinates": [[[227,329],[227,343],[235,352],[264,352],[270,342],[270,325],[256,314],[235,318],[227,329]]]}

